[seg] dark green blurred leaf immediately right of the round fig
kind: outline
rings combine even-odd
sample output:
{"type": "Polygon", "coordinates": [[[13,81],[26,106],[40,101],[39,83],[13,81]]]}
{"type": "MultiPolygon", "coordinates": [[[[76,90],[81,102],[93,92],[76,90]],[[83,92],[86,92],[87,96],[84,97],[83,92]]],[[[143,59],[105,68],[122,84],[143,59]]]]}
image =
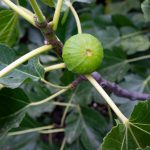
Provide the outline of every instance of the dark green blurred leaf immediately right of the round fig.
{"type": "Polygon", "coordinates": [[[121,49],[107,50],[99,72],[109,81],[120,81],[130,68],[125,61],[126,55],[121,49]]]}

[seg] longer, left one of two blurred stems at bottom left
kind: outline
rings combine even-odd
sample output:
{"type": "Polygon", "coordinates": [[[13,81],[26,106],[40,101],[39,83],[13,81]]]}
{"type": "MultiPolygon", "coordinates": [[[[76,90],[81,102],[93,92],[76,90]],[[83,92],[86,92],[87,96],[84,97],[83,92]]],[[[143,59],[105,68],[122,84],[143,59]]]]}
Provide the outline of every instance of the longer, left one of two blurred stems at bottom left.
{"type": "Polygon", "coordinates": [[[49,126],[44,126],[44,127],[26,129],[26,130],[22,130],[22,131],[9,132],[8,136],[31,133],[31,132],[36,132],[36,131],[41,131],[41,130],[46,130],[46,129],[52,129],[53,127],[54,127],[53,125],[49,125],[49,126]]]}

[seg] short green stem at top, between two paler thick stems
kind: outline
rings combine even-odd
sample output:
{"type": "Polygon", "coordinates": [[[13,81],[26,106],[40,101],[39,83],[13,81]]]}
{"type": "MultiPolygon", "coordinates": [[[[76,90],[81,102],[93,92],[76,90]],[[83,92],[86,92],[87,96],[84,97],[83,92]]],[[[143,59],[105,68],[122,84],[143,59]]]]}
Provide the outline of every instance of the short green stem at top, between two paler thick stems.
{"type": "Polygon", "coordinates": [[[36,0],[29,0],[35,14],[36,14],[36,17],[38,19],[38,22],[39,23],[44,23],[45,22],[45,16],[43,15],[41,9],[39,8],[36,0]]]}

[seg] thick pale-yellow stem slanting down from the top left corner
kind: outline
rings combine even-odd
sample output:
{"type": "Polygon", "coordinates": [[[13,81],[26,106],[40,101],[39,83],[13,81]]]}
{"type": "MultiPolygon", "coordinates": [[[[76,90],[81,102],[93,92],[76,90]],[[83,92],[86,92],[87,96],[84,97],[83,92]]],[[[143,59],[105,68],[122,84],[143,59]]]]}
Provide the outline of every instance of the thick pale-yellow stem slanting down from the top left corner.
{"type": "Polygon", "coordinates": [[[8,5],[11,9],[13,9],[15,12],[17,12],[20,16],[22,16],[24,19],[26,19],[29,23],[32,25],[36,26],[34,23],[34,14],[33,16],[29,15],[24,9],[21,7],[15,5],[13,2],[10,0],[2,0],[6,5],[8,5]]]}

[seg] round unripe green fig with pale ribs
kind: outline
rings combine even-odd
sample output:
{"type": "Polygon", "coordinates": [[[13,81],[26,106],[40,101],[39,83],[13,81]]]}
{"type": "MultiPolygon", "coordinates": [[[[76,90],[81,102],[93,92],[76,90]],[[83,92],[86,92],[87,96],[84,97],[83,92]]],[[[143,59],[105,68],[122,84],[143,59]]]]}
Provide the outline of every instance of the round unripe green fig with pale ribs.
{"type": "Polygon", "coordinates": [[[62,57],[68,70],[77,74],[89,74],[100,66],[103,47],[94,36],[77,34],[66,41],[62,57]]]}

